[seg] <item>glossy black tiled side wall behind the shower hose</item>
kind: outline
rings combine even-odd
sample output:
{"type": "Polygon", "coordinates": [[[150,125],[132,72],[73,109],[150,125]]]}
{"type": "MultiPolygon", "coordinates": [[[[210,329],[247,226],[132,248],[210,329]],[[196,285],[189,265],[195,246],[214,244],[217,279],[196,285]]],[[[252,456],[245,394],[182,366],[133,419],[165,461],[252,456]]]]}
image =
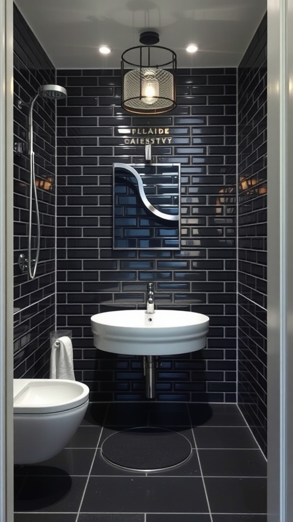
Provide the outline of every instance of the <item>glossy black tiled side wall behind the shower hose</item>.
{"type": "MultiPolygon", "coordinates": [[[[18,257],[28,255],[30,161],[27,103],[40,85],[55,84],[55,69],[14,6],[14,358],[15,377],[47,376],[50,330],[55,328],[55,102],[36,100],[33,110],[35,176],[40,208],[41,248],[36,277],[21,272],[18,257]]],[[[33,205],[33,257],[36,213],[33,205]]]]}

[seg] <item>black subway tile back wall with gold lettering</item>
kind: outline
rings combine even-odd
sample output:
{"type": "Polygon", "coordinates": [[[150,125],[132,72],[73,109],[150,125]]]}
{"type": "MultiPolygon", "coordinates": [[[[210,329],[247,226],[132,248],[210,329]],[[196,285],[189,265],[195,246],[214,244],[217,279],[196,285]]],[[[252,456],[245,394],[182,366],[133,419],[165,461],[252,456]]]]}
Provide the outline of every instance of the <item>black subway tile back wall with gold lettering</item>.
{"type": "Polygon", "coordinates": [[[148,117],[121,110],[118,70],[57,71],[57,325],[92,401],[145,400],[142,358],[94,348],[90,317],[144,309],[150,281],[158,309],[210,316],[206,349],[158,360],[156,400],[236,401],[237,71],[178,73],[177,108],[148,117]],[[115,251],[113,163],[144,162],[149,132],[181,165],[181,250],[115,251]]]}

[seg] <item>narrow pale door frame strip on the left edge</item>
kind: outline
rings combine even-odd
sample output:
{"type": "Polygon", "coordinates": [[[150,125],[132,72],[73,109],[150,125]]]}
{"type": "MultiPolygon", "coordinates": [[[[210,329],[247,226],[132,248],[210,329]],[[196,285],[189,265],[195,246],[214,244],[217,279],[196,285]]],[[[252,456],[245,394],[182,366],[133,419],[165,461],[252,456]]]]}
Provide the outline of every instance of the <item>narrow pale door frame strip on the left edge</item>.
{"type": "Polygon", "coordinates": [[[13,2],[0,0],[0,520],[13,521],[13,2]]]}

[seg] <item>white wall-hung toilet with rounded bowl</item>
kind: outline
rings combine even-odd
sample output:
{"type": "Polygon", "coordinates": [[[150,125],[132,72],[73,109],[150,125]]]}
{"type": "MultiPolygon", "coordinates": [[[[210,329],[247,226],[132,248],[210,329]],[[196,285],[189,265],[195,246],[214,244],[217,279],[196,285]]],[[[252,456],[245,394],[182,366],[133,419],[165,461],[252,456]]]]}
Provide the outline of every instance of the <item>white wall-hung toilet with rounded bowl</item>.
{"type": "Polygon", "coordinates": [[[86,384],[65,379],[14,379],[14,460],[35,464],[57,455],[89,404],[86,384]]]}

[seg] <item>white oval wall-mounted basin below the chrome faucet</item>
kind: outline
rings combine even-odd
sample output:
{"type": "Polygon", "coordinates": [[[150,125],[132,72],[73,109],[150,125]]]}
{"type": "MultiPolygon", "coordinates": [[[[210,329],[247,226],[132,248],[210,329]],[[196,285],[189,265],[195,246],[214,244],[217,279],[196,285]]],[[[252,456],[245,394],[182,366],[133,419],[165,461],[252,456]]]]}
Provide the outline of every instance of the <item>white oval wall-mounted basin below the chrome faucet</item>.
{"type": "Polygon", "coordinates": [[[196,312],[119,310],[91,317],[94,346],[129,355],[173,355],[205,347],[209,317],[196,312]]]}

